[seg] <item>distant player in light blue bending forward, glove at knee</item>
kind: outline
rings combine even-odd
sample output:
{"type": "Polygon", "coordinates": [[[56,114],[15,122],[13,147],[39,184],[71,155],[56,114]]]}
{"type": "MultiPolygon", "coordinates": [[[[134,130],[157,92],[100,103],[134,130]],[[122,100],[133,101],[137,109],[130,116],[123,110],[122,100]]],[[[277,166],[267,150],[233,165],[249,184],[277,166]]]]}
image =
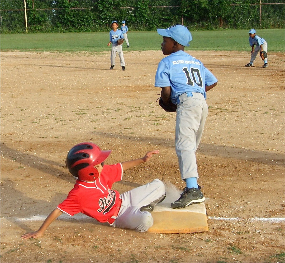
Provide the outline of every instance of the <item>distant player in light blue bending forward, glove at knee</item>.
{"type": "MultiPolygon", "coordinates": [[[[255,33],[255,29],[249,30],[249,45],[251,46],[252,51],[250,62],[245,65],[245,67],[254,67],[253,62],[256,59],[258,51],[261,52],[262,50],[265,50],[267,52],[267,42],[263,38],[257,36],[255,33]],[[256,47],[254,47],[254,45],[256,45],[256,47]]],[[[264,65],[262,67],[268,67],[267,58],[264,59],[264,65]]]]}

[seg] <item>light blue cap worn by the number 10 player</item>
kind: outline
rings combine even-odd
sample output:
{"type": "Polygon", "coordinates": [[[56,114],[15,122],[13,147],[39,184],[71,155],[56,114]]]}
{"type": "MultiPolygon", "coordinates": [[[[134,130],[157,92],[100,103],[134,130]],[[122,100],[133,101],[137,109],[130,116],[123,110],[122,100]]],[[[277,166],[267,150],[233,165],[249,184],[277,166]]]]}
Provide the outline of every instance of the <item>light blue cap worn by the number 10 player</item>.
{"type": "Polygon", "coordinates": [[[192,40],[192,36],[186,26],[175,25],[166,29],[157,29],[156,31],[160,36],[170,37],[182,46],[190,46],[188,43],[192,40]]]}

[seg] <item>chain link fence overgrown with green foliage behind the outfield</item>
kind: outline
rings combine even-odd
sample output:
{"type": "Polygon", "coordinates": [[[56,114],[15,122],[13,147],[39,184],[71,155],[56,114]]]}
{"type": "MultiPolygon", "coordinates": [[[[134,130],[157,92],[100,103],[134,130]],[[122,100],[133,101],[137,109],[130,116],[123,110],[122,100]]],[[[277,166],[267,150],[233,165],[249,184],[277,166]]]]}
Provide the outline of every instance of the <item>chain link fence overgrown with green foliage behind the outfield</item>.
{"type": "Polygon", "coordinates": [[[278,0],[1,0],[1,33],[132,31],[183,24],[190,30],[284,28],[278,0]],[[25,4],[26,3],[26,15],[25,4]],[[27,20],[27,28],[26,28],[27,20]]]}

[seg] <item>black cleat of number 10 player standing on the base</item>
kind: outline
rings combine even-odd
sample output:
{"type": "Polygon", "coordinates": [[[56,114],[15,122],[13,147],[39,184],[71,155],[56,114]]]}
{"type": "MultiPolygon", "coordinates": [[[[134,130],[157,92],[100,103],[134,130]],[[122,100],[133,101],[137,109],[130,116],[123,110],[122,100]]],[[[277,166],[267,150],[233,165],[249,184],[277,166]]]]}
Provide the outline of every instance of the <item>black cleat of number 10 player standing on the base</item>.
{"type": "Polygon", "coordinates": [[[188,188],[185,187],[182,194],[180,194],[180,198],[174,201],[170,206],[171,208],[178,209],[190,206],[192,204],[199,204],[205,201],[205,197],[201,192],[201,188],[203,186],[198,185],[197,188],[188,188]]]}

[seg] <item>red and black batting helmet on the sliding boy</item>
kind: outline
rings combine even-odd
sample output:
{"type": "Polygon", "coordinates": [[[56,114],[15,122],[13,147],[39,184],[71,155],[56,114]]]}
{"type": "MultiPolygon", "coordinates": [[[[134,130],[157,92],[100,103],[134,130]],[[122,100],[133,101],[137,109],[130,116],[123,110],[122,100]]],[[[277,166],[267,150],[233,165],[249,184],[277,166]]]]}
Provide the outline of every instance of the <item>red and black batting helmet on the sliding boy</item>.
{"type": "Polygon", "coordinates": [[[92,142],[82,142],[73,146],[67,154],[65,163],[75,179],[81,181],[95,181],[99,173],[94,165],[107,159],[111,150],[101,151],[92,142]]]}

